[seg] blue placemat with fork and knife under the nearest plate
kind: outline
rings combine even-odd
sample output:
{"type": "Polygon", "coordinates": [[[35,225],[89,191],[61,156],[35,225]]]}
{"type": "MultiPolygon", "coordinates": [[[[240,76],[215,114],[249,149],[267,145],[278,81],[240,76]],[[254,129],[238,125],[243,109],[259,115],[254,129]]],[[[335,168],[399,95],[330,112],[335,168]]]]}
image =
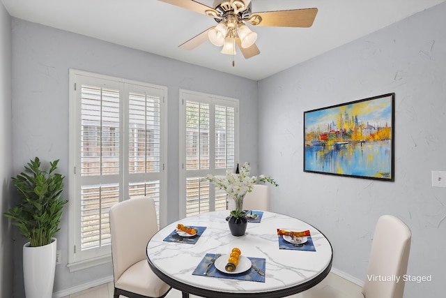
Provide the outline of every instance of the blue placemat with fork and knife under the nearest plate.
{"type": "MultiPolygon", "coordinates": [[[[208,265],[210,264],[210,261],[214,258],[214,255],[215,255],[214,253],[206,253],[203,260],[201,260],[201,262],[199,263],[197,268],[194,269],[192,274],[205,276],[204,271],[206,271],[206,268],[208,268],[208,265]]],[[[249,258],[249,257],[247,257],[247,258],[249,260],[251,260],[252,264],[256,268],[259,268],[261,271],[265,272],[265,267],[266,267],[265,259],[263,259],[263,258],[249,258]]],[[[217,268],[215,268],[215,265],[212,265],[210,267],[210,269],[208,270],[208,275],[206,275],[206,276],[239,279],[242,281],[258,281],[261,283],[265,282],[265,274],[263,274],[263,276],[262,276],[261,274],[259,274],[259,272],[254,270],[252,267],[249,268],[247,271],[242,272],[240,274],[225,274],[225,273],[217,270],[217,268]]]]}

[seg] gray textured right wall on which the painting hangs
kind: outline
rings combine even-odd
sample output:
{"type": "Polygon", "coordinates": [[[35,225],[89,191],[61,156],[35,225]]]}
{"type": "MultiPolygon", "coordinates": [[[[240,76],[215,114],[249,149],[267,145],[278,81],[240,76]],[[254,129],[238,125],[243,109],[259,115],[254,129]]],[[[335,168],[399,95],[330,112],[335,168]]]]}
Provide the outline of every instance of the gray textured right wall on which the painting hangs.
{"type": "Polygon", "coordinates": [[[333,267],[366,278],[374,227],[393,214],[413,232],[404,297],[442,297],[446,276],[446,3],[259,82],[259,172],[275,177],[272,211],[330,239],[333,267]],[[303,112],[394,92],[395,181],[303,172],[303,112]],[[442,294],[440,294],[442,293],[442,294]]]}

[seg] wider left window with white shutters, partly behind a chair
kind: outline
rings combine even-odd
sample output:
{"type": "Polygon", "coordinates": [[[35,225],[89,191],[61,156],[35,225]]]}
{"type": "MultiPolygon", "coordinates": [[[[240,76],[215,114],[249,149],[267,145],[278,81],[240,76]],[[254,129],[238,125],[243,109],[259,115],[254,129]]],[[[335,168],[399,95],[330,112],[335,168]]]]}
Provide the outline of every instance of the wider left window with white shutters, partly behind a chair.
{"type": "Polygon", "coordinates": [[[70,270],[109,262],[109,209],[148,196],[166,221],[164,97],[151,84],[70,70],[70,270]],[[72,170],[72,172],[71,172],[72,170]]]}

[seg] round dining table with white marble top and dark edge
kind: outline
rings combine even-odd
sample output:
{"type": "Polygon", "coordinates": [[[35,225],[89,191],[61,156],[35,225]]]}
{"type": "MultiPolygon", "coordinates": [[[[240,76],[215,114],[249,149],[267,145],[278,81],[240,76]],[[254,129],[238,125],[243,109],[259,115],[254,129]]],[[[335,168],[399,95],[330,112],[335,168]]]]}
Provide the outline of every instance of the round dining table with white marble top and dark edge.
{"type": "Polygon", "coordinates": [[[148,241],[148,265],[162,281],[183,292],[183,298],[189,294],[210,298],[286,297],[314,287],[328,275],[333,252],[330,241],[321,231],[298,218],[270,211],[255,212],[261,214],[260,222],[249,222],[245,234],[240,237],[233,236],[229,230],[227,210],[211,211],[171,223],[148,241]],[[194,236],[196,239],[178,237],[178,223],[199,227],[199,234],[194,236]],[[309,230],[308,241],[312,241],[312,250],[299,247],[304,244],[296,244],[295,249],[294,245],[289,245],[287,249],[279,243],[282,236],[277,234],[277,229],[309,230]],[[224,270],[217,271],[216,263],[210,264],[215,261],[208,260],[213,255],[229,255],[234,247],[247,258],[263,261],[261,269],[264,270],[259,273],[263,275],[256,276],[257,281],[233,278],[236,276],[225,274],[224,270]],[[209,275],[203,274],[200,265],[209,267],[209,275]]]}

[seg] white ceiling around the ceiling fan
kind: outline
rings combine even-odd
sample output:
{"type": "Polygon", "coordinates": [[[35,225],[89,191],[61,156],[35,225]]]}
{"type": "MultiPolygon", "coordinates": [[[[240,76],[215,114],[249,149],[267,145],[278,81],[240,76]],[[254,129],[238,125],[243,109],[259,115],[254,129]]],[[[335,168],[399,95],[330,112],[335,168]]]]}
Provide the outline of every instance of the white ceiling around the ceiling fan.
{"type": "MultiPolygon", "coordinates": [[[[220,54],[209,41],[178,45],[214,26],[212,17],[157,0],[1,0],[13,17],[261,80],[446,0],[252,0],[252,12],[318,8],[310,28],[251,27],[261,53],[220,54]]],[[[187,1],[187,0],[182,0],[187,1]]],[[[213,0],[198,0],[213,6],[213,0]]]]}

